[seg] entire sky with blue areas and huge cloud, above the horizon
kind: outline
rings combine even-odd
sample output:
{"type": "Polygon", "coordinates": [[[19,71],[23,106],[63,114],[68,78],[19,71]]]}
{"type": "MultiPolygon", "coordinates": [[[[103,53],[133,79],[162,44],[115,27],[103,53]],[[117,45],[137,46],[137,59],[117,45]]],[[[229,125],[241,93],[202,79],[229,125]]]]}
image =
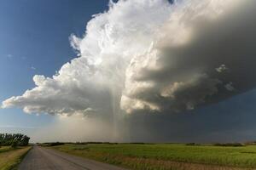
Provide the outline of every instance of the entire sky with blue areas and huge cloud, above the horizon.
{"type": "Polygon", "coordinates": [[[3,1],[0,132],[34,142],[254,140],[255,8],[3,1]]]}

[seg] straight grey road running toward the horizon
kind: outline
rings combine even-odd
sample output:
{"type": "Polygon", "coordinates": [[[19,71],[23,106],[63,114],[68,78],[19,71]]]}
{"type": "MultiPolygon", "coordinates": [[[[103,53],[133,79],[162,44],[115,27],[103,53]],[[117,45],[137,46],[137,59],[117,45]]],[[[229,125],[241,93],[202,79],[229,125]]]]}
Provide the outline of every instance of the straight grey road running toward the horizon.
{"type": "Polygon", "coordinates": [[[57,150],[34,146],[20,163],[19,170],[125,170],[98,161],[71,156],[57,150]]]}

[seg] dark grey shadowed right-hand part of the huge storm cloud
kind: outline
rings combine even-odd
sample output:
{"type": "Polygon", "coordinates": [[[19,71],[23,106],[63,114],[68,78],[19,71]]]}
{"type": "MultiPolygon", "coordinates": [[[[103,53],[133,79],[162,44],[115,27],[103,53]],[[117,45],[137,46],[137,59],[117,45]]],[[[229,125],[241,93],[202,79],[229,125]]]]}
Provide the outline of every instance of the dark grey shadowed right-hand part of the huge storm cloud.
{"type": "Polygon", "coordinates": [[[189,41],[173,46],[165,37],[164,46],[157,49],[155,65],[160,68],[133,63],[136,71],[130,83],[148,82],[148,86],[127,90],[128,102],[145,105],[133,109],[184,111],[255,88],[255,9],[256,3],[247,1],[216,20],[189,19],[185,22],[190,22],[193,32],[189,41]]]}

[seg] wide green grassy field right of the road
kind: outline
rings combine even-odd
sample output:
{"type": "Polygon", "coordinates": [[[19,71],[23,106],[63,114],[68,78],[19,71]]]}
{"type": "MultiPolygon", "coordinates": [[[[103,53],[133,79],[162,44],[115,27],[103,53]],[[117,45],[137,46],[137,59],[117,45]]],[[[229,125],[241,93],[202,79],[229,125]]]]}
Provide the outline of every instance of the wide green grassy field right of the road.
{"type": "Polygon", "coordinates": [[[53,148],[140,170],[256,169],[256,145],[63,144],[53,148]]]}

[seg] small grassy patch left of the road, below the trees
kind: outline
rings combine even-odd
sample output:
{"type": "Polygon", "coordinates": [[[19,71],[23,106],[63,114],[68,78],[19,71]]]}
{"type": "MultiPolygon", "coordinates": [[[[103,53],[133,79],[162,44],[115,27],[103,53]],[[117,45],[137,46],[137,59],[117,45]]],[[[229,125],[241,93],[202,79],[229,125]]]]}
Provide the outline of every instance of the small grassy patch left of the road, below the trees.
{"type": "Polygon", "coordinates": [[[13,149],[9,146],[1,147],[0,170],[9,170],[15,168],[29,149],[30,147],[22,147],[17,149],[13,149]]]}

